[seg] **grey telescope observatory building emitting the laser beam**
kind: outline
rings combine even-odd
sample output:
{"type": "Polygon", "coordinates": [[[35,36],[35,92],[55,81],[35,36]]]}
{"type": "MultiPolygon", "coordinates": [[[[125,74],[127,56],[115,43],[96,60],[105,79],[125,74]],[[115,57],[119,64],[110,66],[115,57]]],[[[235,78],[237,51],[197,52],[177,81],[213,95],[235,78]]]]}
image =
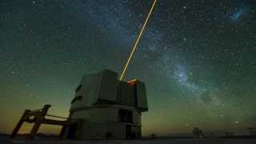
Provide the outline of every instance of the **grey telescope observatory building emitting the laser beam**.
{"type": "Polygon", "coordinates": [[[118,74],[102,70],[82,77],[70,107],[64,138],[141,138],[141,115],[148,110],[146,88],[136,79],[119,81],[118,74]]]}

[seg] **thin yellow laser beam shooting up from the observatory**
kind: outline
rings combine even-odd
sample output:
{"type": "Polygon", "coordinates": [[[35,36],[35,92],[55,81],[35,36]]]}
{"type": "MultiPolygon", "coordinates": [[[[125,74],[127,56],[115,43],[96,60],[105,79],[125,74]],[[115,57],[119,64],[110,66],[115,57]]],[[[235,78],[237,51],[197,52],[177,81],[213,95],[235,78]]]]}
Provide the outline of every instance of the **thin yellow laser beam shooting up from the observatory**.
{"type": "Polygon", "coordinates": [[[141,39],[141,37],[142,37],[142,33],[143,33],[143,31],[144,31],[144,29],[145,29],[145,27],[146,27],[146,23],[148,22],[148,20],[149,20],[149,18],[150,18],[150,15],[151,15],[151,13],[152,13],[152,11],[153,11],[153,9],[154,9],[154,6],[155,6],[155,3],[156,3],[156,2],[157,2],[157,0],[154,0],[154,3],[153,3],[153,5],[151,6],[151,9],[150,9],[149,14],[147,14],[146,20],[145,20],[145,22],[144,22],[144,24],[143,24],[143,26],[142,26],[142,30],[141,30],[140,33],[138,34],[138,38],[137,38],[137,40],[136,40],[136,42],[135,42],[135,44],[134,44],[133,49],[132,49],[131,52],[130,52],[130,55],[129,55],[129,58],[128,58],[127,62],[126,62],[126,65],[124,66],[124,68],[123,68],[123,70],[122,70],[122,74],[121,74],[121,76],[120,76],[120,78],[119,78],[120,81],[122,81],[122,78],[123,78],[124,75],[126,74],[128,65],[130,64],[130,60],[131,60],[131,58],[132,58],[132,56],[133,56],[133,54],[134,54],[134,51],[135,51],[136,48],[137,48],[138,42],[140,41],[140,39],[141,39]]]}

